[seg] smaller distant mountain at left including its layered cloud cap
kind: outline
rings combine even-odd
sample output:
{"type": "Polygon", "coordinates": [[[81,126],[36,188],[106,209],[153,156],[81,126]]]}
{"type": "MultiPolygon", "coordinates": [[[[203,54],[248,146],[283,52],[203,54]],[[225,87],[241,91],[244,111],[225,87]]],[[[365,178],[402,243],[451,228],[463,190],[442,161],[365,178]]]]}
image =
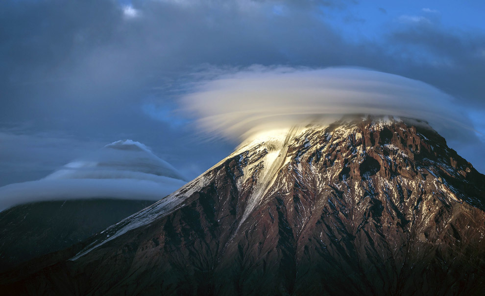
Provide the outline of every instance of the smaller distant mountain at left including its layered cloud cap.
{"type": "Polygon", "coordinates": [[[0,271],[77,244],[185,183],[145,145],[121,140],[42,180],[1,187],[0,271]]]}

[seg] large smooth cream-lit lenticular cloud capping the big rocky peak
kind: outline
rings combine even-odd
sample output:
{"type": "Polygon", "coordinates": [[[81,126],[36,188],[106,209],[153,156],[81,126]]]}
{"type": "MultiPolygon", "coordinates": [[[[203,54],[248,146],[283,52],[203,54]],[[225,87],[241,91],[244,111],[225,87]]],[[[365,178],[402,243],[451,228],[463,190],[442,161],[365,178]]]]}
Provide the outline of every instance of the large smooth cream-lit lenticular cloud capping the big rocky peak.
{"type": "Polygon", "coordinates": [[[422,119],[435,129],[465,125],[443,91],[362,68],[256,66],[201,83],[182,104],[199,118],[203,131],[232,139],[350,114],[422,119]]]}

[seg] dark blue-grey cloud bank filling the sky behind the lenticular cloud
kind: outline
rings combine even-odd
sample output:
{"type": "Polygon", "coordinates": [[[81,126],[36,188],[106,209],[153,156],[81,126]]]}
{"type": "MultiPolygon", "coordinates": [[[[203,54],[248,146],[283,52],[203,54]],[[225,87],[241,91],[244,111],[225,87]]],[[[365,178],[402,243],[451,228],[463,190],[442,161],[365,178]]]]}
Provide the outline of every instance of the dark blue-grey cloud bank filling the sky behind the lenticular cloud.
{"type": "MultiPolygon", "coordinates": [[[[200,143],[185,124],[193,118],[172,109],[194,81],[225,67],[367,67],[429,83],[475,112],[485,108],[485,37],[445,28],[439,14],[426,13],[425,23],[386,23],[379,38],[348,41],[332,20],[339,14],[356,19],[346,12],[354,1],[127,3],[1,1],[0,127],[27,122],[32,127],[15,135],[39,140],[39,133],[62,132],[72,141],[57,144],[67,150],[78,142],[133,138],[195,177],[225,157],[233,143],[200,143]]],[[[478,142],[472,132],[445,136],[467,149],[482,147],[472,145],[478,142]]],[[[52,147],[54,142],[46,141],[52,147]]],[[[22,160],[30,150],[16,153],[13,143],[4,158],[11,159],[9,166],[15,165],[12,159],[25,165],[17,180],[37,179],[39,173],[27,173],[30,159],[22,160]]],[[[63,163],[71,160],[58,154],[63,163]]],[[[481,156],[465,154],[485,171],[481,156]]],[[[0,171],[7,180],[8,170],[0,171]]]]}

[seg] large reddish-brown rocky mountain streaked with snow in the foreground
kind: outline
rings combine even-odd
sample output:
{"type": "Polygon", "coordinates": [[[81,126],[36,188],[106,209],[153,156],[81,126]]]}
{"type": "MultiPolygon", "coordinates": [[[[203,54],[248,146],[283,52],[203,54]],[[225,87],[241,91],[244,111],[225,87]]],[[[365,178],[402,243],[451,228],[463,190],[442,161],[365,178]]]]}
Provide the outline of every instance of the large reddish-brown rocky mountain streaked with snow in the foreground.
{"type": "Polygon", "coordinates": [[[481,295],[485,176],[424,123],[269,133],[70,260],[1,276],[52,295],[481,295]]]}

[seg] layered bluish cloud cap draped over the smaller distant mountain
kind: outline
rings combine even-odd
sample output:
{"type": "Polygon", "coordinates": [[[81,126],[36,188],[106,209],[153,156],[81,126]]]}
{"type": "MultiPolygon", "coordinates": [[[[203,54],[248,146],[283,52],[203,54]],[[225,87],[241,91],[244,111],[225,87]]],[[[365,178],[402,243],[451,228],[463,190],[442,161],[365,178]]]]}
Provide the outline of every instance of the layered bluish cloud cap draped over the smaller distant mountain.
{"type": "Polygon", "coordinates": [[[143,144],[117,141],[72,161],[44,179],[0,187],[0,210],[27,202],[116,198],[159,200],[186,183],[143,144]]]}

